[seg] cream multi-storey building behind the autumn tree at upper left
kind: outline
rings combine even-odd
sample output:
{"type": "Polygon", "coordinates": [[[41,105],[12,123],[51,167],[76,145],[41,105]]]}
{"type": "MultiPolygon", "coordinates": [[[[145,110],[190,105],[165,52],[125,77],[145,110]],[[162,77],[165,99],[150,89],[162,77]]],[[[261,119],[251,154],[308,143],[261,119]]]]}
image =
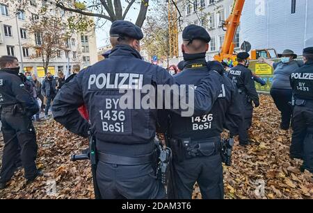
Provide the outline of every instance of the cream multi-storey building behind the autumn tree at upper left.
{"type": "MultiPolygon", "coordinates": [[[[38,56],[36,49],[29,47],[29,44],[40,45],[42,40],[39,33],[29,33],[26,26],[31,19],[38,19],[38,10],[47,4],[56,16],[62,16],[66,22],[70,13],[56,8],[51,2],[31,0],[27,10],[17,11],[13,5],[0,1],[0,56],[17,57],[24,71],[31,71],[39,77],[45,76],[42,58],[38,56]],[[33,58],[36,53],[38,57],[33,58]]],[[[56,75],[57,71],[66,73],[72,65],[87,67],[95,62],[97,62],[95,31],[73,33],[67,41],[67,50],[58,51],[56,58],[51,58],[48,70],[56,75]]]]}

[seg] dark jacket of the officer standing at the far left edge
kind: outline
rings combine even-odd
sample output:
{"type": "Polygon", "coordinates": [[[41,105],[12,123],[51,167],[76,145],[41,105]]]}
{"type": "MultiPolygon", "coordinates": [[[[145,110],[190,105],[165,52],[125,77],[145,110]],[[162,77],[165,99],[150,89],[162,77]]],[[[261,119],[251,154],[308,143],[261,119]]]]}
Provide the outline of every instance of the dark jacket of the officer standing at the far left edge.
{"type": "Polygon", "coordinates": [[[20,104],[28,115],[39,111],[35,99],[25,90],[25,85],[19,76],[12,74],[8,69],[0,70],[0,105],[13,106],[20,104]]]}

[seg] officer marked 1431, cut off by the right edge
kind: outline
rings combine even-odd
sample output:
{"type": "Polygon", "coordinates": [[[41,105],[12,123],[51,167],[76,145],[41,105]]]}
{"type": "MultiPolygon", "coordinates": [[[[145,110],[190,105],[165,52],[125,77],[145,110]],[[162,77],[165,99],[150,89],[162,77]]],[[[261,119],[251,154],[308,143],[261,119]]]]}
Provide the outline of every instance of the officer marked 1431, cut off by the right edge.
{"type": "Polygon", "coordinates": [[[294,118],[290,157],[303,159],[302,170],[313,173],[313,47],[303,50],[305,65],[294,71],[294,118]]]}

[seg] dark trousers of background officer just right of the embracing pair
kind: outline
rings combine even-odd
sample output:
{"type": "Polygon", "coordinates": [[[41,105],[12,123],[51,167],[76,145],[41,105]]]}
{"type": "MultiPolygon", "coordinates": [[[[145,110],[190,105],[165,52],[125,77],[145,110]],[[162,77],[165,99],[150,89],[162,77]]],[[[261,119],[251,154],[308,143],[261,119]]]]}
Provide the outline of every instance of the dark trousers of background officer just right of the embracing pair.
{"type": "Polygon", "coordinates": [[[241,108],[243,110],[243,122],[239,123],[239,143],[245,145],[249,142],[248,130],[252,124],[253,107],[245,93],[242,93],[239,96],[241,99],[241,108]]]}

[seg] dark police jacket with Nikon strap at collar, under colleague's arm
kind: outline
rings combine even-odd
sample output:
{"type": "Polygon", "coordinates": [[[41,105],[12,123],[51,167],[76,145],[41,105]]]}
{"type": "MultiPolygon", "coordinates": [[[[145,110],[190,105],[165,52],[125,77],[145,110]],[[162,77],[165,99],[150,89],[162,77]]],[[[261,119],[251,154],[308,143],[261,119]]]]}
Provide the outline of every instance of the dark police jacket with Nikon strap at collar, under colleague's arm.
{"type": "MultiPolygon", "coordinates": [[[[205,60],[192,60],[185,64],[184,71],[175,76],[179,84],[199,85],[200,80],[209,74],[210,67],[199,67],[205,60]]],[[[222,89],[213,108],[207,114],[194,117],[181,117],[170,112],[169,135],[174,139],[191,138],[202,141],[211,137],[218,137],[223,128],[237,132],[239,123],[243,121],[241,115],[238,91],[227,76],[223,76],[222,89]]],[[[163,122],[164,114],[160,114],[159,121],[163,122]]],[[[165,118],[166,119],[166,118],[165,118]]],[[[164,123],[164,122],[163,122],[164,123]]],[[[164,124],[162,124],[164,126],[164,124]]]]}

